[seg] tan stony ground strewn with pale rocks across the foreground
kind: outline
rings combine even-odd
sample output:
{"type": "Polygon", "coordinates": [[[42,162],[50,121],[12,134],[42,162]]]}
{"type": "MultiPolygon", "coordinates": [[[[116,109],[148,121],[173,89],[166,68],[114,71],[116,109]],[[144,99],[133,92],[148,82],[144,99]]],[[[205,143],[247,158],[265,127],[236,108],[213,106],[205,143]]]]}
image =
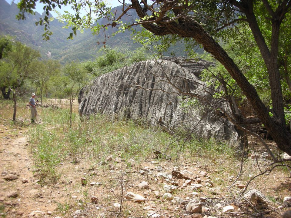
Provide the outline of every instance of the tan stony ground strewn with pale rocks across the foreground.
{"type": "MultiPolygon", "coordinates": [[[[68,156],[59,163],[59,180],[55,184],[41,183],[33,171],[27,138],[30,128],[15,127],[4,119],[0,125],[2,217],[276,218],[291,206],[288,171],[278,169],[259,177],[248,192],[239,195],[246,180],[238,180],[228,188],[239,172],[239,162],[238,166],[229,166],[235,172],[231,175],[229,169],[218,167],[225,160],[217,159],[210,160],[206,167],[201,161],[175,164],[155,159],[154,154],[142,163],[124,161],[118,151],[104,154],[104,160],[94,164],[86,159],[74,163],[68,156]]],[[[261,154],[257,155],[264,158],[261,154]]]]}

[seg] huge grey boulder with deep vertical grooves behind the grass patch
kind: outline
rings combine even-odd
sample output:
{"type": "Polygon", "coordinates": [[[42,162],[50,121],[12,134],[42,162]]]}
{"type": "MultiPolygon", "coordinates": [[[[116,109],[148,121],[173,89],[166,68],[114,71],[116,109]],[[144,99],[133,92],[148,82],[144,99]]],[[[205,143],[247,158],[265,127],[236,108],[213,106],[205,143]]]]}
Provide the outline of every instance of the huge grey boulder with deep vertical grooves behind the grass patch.
{"type": "MultiPolygon", "coordinates": [[[[175,62],[142,61],[101,75],[80,91],[80,116],[101,113],[158,123],[168,130],[184,127],[198,137],[235,138],[232,124],[202,106],[211,94],[206,84],[187,69],[195,71],[194,66],[184,63],[182,67],[175,62]],[[183,94],[190,98],[183,99],[183,94]],[[201,101],[193,100],[194,96],[201,101]]],[[[196,70],[201,72],[202,64],[198,65],[196,70]]]]}

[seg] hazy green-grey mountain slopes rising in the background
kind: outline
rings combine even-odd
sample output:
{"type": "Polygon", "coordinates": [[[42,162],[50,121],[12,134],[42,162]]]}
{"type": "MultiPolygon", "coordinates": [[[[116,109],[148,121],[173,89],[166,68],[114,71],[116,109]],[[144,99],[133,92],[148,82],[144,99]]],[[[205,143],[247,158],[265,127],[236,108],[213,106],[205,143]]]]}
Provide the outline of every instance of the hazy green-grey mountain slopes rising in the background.
{"type": "MultiPolygon", "coordinates": [[[[122,6],[112,8],[113,11],[120,13],[122,6]]],[[[42,39],[44,33],[42,26],[36,26],[35,22],[42,17],[36,12],[36,15],[28,14],[25,20],[18,21],[15,16],[19,13],[17,5],[12,2],[10,5],[5,0],[0,0],[0,35],[10,35],[15,37],[16,40],[21,41],[27,46],[40,51],[42,58],[47,59],[49,55],[52,59],[57,59],[61,63],[66,63],[73,60],[85,61],[92,59],[96,56],[97,51],[104,46],[104,35],[93,35],[90,30],[84,30],[84,33],[77,33],[77,37],[73,40],[67,40],[70,29],[62,28],[64,24],[54,19],[50,22],[50,31],[53,35],[50,36],[49,41],[42,39]],[[99,42],[99,43],[98,43],[99,42]]],[[[123,22],[130,22],[137,18],[135,12],[130,11],[129,16],[123,18],[123,22]]],[[[52,17],[52,15],[50,15],[52,17]]],[[[101,23],[105,23],[105,18],[100,20],[101,23]]],[[[139,27],[140,28],[140,27],[139,27]]],[[[106,32],[106,46],[110,48],[116,48],[121,51],[135,50],[141,47],[137,43],[133,43],[131,32],[125,31],[124,33],[118,33],[114,37],[111,36],[116,28],[108,28],[106,32]],[[109,38],[108,38],[109,36],[109,38]]],[[[184,46],[181,43],[176,46],[172,46],[165,55],[169,55],[174,52],[177,56],[184,56],[184,46]]]]}

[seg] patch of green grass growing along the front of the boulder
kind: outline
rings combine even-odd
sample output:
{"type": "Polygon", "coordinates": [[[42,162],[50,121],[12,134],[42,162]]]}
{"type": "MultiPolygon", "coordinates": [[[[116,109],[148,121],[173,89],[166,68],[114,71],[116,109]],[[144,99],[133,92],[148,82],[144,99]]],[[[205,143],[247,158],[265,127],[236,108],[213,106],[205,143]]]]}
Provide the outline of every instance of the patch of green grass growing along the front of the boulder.
{"type": "MultiPolygon", "coordinates": [[[[184,142],[183,134],[170,136],[155,127],[144,127],[139,122],[112,120],[95,114],[83,122],[73,113],[73,125],[69,128],[69,109],[41,108],[43,125],[36,125],[29,133],[30,148],[35,160],[35,170],[44,182],[56,182],[60,178],[59,163],[72,158],[73,163],[86,160],[94,168],[106,157],[121,157],[127,167],[141,168],[142,163],[153,157],[152,150],[166,152],[180,161],[180,157],[201,161],[209,158],[231,157],[231,147],[216,140],[192,140],[184,142]]],[[[161,161],[166,161],[161,159],[161,161]]],[[[114,164],[114,163],[112,163],[114,164]]],[[[92,168],[91,167],[91,168],[92,168]]]]}

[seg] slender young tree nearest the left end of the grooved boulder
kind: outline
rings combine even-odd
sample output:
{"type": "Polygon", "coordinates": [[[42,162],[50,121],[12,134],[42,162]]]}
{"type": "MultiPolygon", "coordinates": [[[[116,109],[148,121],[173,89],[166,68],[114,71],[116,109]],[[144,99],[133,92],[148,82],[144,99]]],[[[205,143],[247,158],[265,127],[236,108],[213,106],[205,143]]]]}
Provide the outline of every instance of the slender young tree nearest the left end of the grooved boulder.
{"type": "Polygon", "coordinates": [[[80,63],[72,61],[65,65],[64,76],[61,78],[61,82],[65,94],[70,98],[70,128],[72,127],[73,101],[87,81],[86,71],[80,63]]]}

